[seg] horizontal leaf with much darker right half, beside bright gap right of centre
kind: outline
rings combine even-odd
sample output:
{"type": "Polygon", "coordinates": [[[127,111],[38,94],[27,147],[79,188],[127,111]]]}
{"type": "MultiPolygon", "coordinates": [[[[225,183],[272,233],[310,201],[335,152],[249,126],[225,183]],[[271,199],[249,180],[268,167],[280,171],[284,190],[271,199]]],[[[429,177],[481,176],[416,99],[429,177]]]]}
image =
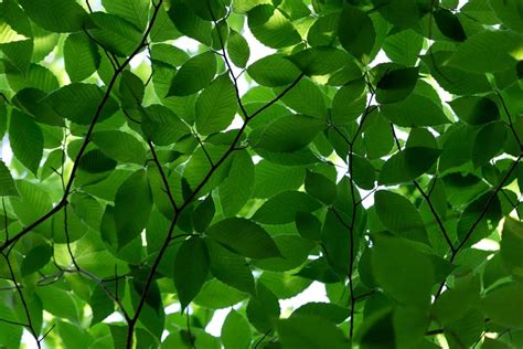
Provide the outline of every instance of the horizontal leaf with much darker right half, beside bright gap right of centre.
{"type": "Polygon", "coordinates": [[[426,173],[439,158],[436,148],[408,147],[392,156],[382,167],[380,183],[391,186],[407,182],[426,173]]]}

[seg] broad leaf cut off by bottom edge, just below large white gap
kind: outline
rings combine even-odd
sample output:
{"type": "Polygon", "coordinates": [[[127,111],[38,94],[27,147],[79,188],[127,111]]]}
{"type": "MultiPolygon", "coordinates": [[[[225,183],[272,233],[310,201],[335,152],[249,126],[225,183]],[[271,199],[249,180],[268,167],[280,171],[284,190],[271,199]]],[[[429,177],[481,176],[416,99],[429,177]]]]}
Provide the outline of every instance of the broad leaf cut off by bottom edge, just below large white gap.
{"type": "Polygon", "coordinates": [[[350,346],[341,329],[333,322],[314,315],[297,315],[277,324],[284,348],[332,348],[350,346]]]}

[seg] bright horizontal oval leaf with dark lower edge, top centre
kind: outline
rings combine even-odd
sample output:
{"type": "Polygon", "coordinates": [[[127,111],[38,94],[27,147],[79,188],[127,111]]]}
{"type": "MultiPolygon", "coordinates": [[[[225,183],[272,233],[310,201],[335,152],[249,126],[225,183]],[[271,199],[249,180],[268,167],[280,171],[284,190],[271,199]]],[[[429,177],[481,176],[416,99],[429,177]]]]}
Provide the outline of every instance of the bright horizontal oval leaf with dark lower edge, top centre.
{"type": "Polygon", "coordinates": [[[254,62],[247,72],[255,82],[268,87],[288,85],[300,75],[298,67],[281,54],[267,55],[254,62]]]}

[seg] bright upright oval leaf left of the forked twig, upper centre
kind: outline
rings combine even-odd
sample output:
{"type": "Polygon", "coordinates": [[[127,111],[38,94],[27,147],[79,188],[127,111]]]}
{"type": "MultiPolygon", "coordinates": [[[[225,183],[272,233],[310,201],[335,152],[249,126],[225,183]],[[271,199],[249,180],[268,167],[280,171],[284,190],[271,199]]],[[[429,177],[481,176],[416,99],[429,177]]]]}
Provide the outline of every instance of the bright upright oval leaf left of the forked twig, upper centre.
{"type": "Polygon", "coordinates": [[[198,98],[198,131],[211,135],[225,129],[233,121],[237,107],[236,91],[228,73],[220,75],[198,98]]]}

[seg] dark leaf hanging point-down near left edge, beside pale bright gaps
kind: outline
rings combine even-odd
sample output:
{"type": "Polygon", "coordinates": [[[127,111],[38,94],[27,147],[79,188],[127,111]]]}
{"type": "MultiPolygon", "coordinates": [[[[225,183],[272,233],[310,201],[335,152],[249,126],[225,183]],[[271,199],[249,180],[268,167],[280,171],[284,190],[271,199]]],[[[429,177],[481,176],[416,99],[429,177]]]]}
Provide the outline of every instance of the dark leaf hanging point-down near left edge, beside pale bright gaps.
{"type": "Polygon", "coordinates": [[[42,129],[33,118],[13,109],[9,125],[9,140],[17,159],[36,174],[42,160],[44,138],[42,129]]]}

